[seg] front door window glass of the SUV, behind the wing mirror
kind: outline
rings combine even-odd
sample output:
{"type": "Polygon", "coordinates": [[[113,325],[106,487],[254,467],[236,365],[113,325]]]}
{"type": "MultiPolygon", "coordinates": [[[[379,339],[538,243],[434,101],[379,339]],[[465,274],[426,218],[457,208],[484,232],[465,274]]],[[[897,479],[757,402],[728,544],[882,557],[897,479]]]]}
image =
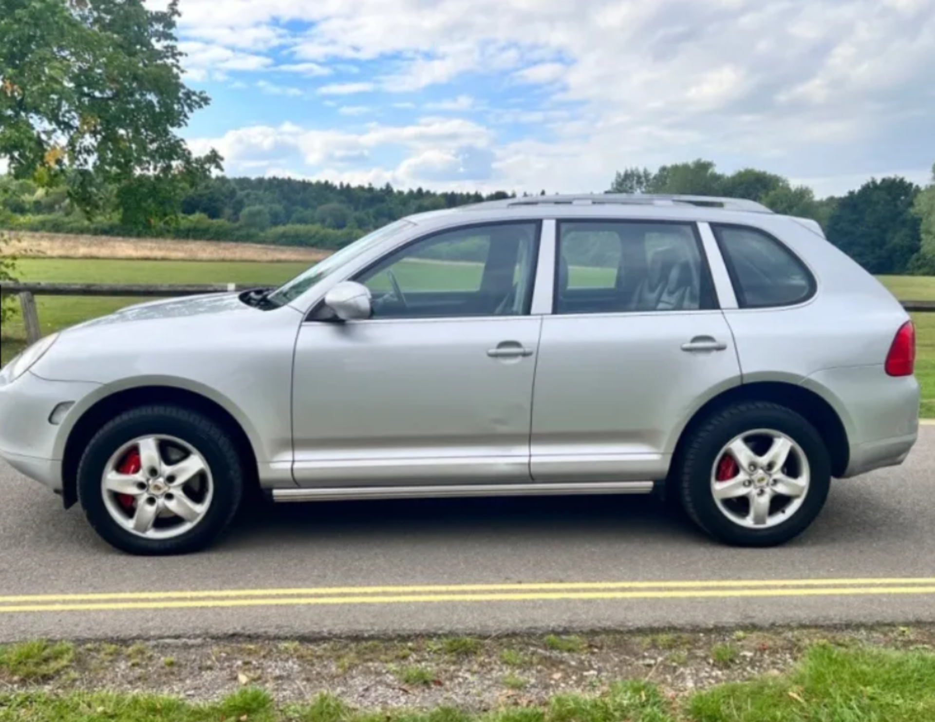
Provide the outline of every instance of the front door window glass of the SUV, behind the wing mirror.
{"type": "Polygon", "coordinates": [[[458,228],[424,238],[363,273],[374,319],[528,312],[537,224],[458,228]]]}

